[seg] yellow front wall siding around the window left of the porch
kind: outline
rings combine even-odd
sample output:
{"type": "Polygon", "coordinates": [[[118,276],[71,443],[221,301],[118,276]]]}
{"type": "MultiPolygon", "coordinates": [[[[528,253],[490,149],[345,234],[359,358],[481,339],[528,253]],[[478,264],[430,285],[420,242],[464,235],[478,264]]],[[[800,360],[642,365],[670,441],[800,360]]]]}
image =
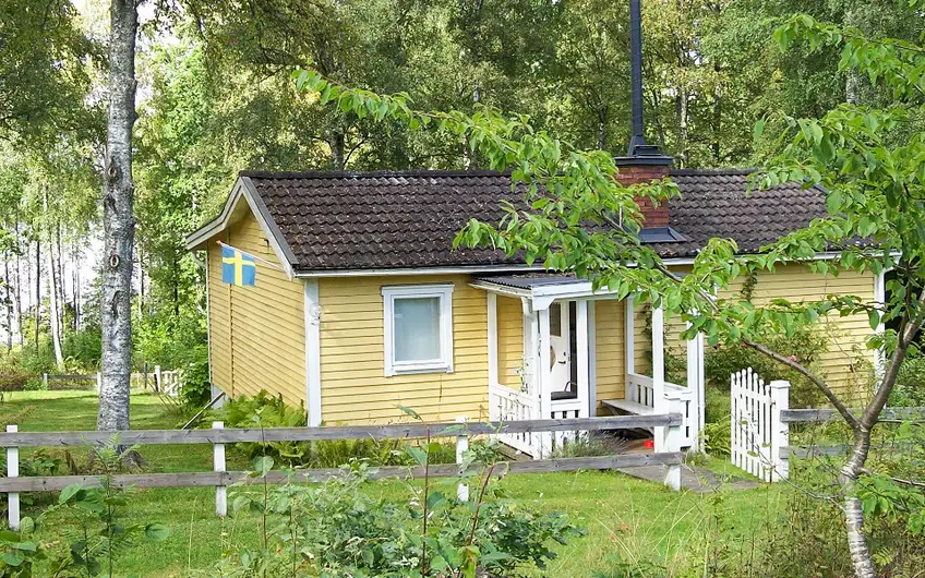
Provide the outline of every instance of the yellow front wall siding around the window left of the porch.
{"type": "MultiPolygon", "coordinates": [[[[485,292],[466,276],[356,277],[319,280],[322,419],[327,423],[479,419],[488,404],[485,292]],[[453,373],[385,376],[382,288],[453,284],[453,373]]],[[[505,305],[505,314],[507,306],[505,305]]]]}

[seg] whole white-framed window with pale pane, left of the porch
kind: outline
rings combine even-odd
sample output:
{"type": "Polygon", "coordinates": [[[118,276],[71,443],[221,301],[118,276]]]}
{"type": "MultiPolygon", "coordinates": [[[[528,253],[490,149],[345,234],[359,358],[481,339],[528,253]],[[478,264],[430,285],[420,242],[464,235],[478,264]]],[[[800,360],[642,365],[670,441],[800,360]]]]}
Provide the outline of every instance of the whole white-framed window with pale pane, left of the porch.
{"type": "Polygon", "coordinates": [[[383,287],[385,375],[453,371],[453,286],[383,287]]]}

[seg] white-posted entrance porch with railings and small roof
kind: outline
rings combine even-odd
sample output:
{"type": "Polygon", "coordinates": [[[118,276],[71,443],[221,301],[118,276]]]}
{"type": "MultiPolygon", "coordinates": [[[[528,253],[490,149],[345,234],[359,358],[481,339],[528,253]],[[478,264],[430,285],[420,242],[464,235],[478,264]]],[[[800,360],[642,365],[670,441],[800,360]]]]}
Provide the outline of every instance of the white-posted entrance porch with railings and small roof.
{"type": "MultiPolygon", "coordinates": [[[[672,344],[685,353],[685,383],[665,376],[662,309],[644,311],[634,298],[593,291],[589,281],[563,275],[483,277],[486,291],[489,417],[493,421],[588,418],[599,414],[681,413],[681,437],[693,448],[704,423],[704,339],[672,344]],[[650,322],[649,322],[650,320],[650,322]]],[[[665,428],[650,431],[664,450],[665,428]]],[[[502,436],[529,456],[546,457],[579,432],[502,436]]]]}

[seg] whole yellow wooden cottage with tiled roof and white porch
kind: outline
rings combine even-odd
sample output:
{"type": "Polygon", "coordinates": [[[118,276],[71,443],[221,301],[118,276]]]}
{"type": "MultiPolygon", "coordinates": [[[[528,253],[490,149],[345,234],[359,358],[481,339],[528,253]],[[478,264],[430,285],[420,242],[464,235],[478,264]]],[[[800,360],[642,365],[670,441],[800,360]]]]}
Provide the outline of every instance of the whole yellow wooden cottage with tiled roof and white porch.
{"type": "MultiPolygon", "coordinates": [[[[641,234],[678,270],[710,238],[755,252],[825,215],[820,190],[746,197],[747,171],[670,170],[664,159],[620,159],[620,178],[677,183],[681,197],[644,209],[641,234]]],[[[500,202],[518,197],[496,172],[242,172],[221,214],[188,238],[206,255],[214,387],[281,394],[310,424],[397,421],[399,406],[433,421],[670,409],[685,416],[682,446],[694,445],[702,339],[672,338],[681,328],[669,320],[665,345],[660,310],[493,251],[452,250],[467,219],[496,221],[500,202]],[[223,249],[253,257],[253,286],[223,282],[223,249]],[[686,359],[685,383],[665,381],[666,350],[686,359]]],[[[759,276],[754,298],[869,300],[882,282],[794,265],[759,276]]],[[[852,387],[867,318],[826,323],[828,375],[852,387]]],[[[542,453],[528,437],[507,442],[542,453]]]]}

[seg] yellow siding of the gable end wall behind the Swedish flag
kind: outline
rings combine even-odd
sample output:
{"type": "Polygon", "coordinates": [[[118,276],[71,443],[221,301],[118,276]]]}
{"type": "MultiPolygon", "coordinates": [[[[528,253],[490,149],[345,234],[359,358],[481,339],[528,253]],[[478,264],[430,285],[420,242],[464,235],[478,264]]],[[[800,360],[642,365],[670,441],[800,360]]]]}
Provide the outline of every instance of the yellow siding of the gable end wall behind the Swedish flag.
{"type": "MultiPolygon", "coordinates": [[[[277,263],[256,219],[248,213],[220,236],[226,243],[277,263]]],[[[256,285],[221,282],[221,248],[208,244],[209,354],[215,384],[227,394],[281,394],[305,401],[304,289],[301,281],[257,262],[256,285]]]]}

